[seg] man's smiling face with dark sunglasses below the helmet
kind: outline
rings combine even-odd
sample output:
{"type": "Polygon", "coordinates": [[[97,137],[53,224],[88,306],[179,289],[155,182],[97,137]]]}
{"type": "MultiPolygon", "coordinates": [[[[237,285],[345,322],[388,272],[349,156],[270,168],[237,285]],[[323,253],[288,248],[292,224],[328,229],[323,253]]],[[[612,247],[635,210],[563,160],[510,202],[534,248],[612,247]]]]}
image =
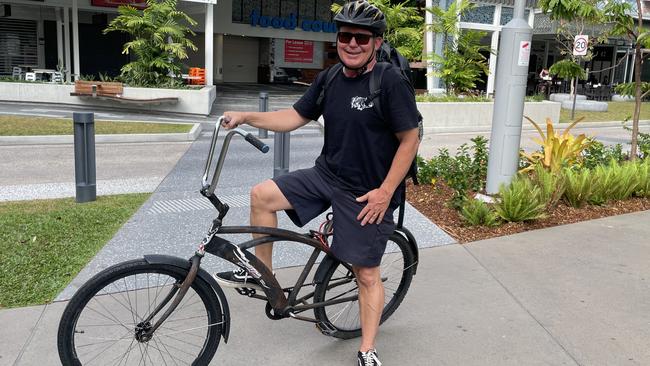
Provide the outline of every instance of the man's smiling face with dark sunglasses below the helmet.
{"type": "Polygon", "coordinates": [[[381,37],[374,37],[371,31],[342,26],[337,34],[336,51],[346,66],[356,69],[362,67],[380,45],[381,37]]]}

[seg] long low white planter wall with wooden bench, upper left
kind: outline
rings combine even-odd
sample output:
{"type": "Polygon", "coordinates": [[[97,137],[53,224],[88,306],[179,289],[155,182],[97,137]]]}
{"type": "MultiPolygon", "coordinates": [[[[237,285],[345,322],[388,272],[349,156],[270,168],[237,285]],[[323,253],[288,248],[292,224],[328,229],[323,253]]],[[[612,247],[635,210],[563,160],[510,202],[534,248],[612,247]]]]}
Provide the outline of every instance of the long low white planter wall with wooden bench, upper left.
{"type": "Polygon", "coordinates": [[[45,83],[0,82],[0,101],[26,103],[55,103],[88,107],[117,108],[136,111],[156,111],[208,115],[217,98],[215,86],[201,89],[157,89],[124,87],[124,97],[135,99],[178,98],[176,104],[138,105],[95,98],[70,96],[74,85],[45,83]]]}

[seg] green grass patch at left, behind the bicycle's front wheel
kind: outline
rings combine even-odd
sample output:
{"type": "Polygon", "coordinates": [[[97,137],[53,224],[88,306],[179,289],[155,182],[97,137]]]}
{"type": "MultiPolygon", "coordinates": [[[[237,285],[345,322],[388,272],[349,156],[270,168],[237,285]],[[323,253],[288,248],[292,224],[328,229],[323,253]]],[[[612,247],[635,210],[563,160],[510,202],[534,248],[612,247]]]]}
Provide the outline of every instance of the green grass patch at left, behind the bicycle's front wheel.
{"type": "Polygon", "coordinates": [[[0,203],[0,308],[52,301],[149,195],[0,203]]]}

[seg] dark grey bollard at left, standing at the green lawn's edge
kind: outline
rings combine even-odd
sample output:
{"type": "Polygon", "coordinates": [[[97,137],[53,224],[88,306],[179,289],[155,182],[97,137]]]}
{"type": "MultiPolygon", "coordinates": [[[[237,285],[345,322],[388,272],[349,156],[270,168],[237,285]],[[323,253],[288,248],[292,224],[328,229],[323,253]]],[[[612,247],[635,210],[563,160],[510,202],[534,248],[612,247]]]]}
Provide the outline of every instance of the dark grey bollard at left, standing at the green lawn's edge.
{"type": "Polygon", "coordinates": [[[90,112],[74,112],[74,175],[77,183],[76,201],[94,201],[97,198],[95,184],[95,115],[90,112]]]}

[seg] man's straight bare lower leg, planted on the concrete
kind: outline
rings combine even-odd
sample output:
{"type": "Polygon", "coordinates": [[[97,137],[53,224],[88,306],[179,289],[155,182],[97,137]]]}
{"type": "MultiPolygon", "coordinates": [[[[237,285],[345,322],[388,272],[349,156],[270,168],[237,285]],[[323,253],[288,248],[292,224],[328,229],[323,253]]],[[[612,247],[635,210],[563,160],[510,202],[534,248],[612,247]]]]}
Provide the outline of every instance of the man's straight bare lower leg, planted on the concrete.
{"type": "Polygon", "coordinates": [[[354,267],[359,285],[359,318],[361,319],[361,352],[375,348],[379,321],[384,310],[384,284],[379,267],[354,267]]]}

